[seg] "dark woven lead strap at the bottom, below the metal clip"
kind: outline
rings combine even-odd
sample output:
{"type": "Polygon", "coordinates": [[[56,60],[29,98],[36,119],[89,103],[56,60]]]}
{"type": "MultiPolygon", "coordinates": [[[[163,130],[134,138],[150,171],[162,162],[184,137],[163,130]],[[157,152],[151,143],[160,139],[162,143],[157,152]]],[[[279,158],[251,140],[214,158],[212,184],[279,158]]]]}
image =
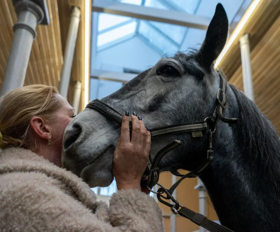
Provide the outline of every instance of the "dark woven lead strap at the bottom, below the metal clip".
{"type": "Polygon", "coordinates": [[[219,225],[218,223],[215,223],[215,222],[207,219],[204,215],[202,215],[200,213],[195,213],[194,211],[192,211],[186,207],[182,207],[180,210],[178,210],[178,214],[187,219],[190,219],[192,222],[194,222],[198,226],[202,226],[211,232],[234,232],[231,229],[229,229],[225,226],[219,225]]]}

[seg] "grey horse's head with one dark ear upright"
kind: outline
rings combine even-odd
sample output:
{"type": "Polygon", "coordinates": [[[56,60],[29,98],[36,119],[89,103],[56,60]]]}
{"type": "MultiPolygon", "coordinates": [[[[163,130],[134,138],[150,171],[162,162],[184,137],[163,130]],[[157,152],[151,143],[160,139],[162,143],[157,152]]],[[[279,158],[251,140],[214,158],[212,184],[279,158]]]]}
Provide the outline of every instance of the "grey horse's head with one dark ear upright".
{"type": "MultiPolygon", "coordinates": [[[[213,62],[225,45],[227,33],[228,19],[218,4],[200,50],[162,58],[101,100],[121,113],[135,111],[151,129],[203,121],[211,113],[220,88],[213,62]]],[[[113,151],[119,135],[119,124],[86,108],[65,130],[63,165],[91,187],[108,186],[113,180],[113,151]]],[[[181,140],[182,146],[162,159],[161,171],[192,170],[205,159],[208,137],[193,138],[190,133],[154,138],[151,158],[174,139],[181,140]]]]}

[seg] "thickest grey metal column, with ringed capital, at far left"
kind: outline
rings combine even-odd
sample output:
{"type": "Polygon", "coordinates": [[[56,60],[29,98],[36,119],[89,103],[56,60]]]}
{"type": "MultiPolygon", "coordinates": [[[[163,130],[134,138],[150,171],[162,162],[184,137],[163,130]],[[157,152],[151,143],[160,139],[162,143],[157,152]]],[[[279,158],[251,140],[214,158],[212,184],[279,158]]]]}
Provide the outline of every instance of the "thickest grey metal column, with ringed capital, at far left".
{"type": "Polygon", "coordinates": [[[15,4],[18,22],[14,24],[14,38],[1,88],[1,95],[24,85],[36,26],[44,18],[42,8],[36,3],[23,0],[15,4]]]}

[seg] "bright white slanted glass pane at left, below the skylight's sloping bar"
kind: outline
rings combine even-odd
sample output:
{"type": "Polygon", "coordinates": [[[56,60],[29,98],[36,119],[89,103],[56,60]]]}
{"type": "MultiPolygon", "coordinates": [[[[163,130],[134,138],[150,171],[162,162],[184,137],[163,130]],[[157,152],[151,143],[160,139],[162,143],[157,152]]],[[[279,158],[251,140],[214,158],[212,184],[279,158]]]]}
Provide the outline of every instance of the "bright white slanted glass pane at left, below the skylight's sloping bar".
{"type": "Polygon", "coordinates": [[[106,43],[112,42],[113,40],[120,39],[122,37],[133,35],[136,30],[136,21],[130,22],[126,25],[117,27],[115,29],[109,30],[97,36],[97,46],[104,45],[106,43]]]}

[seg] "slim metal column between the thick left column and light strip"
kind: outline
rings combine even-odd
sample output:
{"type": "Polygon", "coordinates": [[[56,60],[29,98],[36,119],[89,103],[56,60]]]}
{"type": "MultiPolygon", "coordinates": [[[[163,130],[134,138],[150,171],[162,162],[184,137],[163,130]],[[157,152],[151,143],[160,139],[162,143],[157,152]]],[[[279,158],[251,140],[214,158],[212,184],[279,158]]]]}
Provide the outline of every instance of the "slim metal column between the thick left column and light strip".
{"type": "Polygon", "coordinates": [[[69,82],[71,77],[72,62],[75,52],[76,39],[78,34],[78,27],[80,22],[80,8],[74,6],[69,24],[69,31],[66,40],[66,46],[63,56],[63,66],[60,75],[59,93],[62,97],[67,99],[69,82]]]}

